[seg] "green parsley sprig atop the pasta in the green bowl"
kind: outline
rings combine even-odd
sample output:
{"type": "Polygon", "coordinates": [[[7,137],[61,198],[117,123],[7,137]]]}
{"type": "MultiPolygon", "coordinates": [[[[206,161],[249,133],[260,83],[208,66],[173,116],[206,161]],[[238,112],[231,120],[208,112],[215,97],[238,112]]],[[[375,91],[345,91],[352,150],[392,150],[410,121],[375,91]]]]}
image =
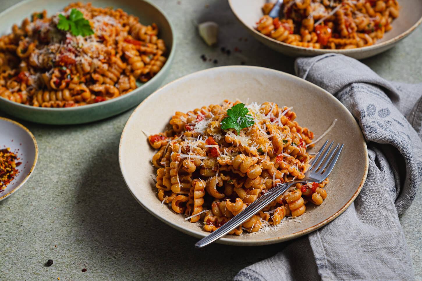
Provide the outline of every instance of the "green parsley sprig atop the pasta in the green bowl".
{"type": "Polygon", "coordinates": [[[76,9],[70,11],[69,19],[62,14],[59,14],[57,28],[66,31],[70,29],[70,33],[74,36],[82,35],[85,37],[94,34],[89,21],[84,19],[84,14],[76,9]]]}

